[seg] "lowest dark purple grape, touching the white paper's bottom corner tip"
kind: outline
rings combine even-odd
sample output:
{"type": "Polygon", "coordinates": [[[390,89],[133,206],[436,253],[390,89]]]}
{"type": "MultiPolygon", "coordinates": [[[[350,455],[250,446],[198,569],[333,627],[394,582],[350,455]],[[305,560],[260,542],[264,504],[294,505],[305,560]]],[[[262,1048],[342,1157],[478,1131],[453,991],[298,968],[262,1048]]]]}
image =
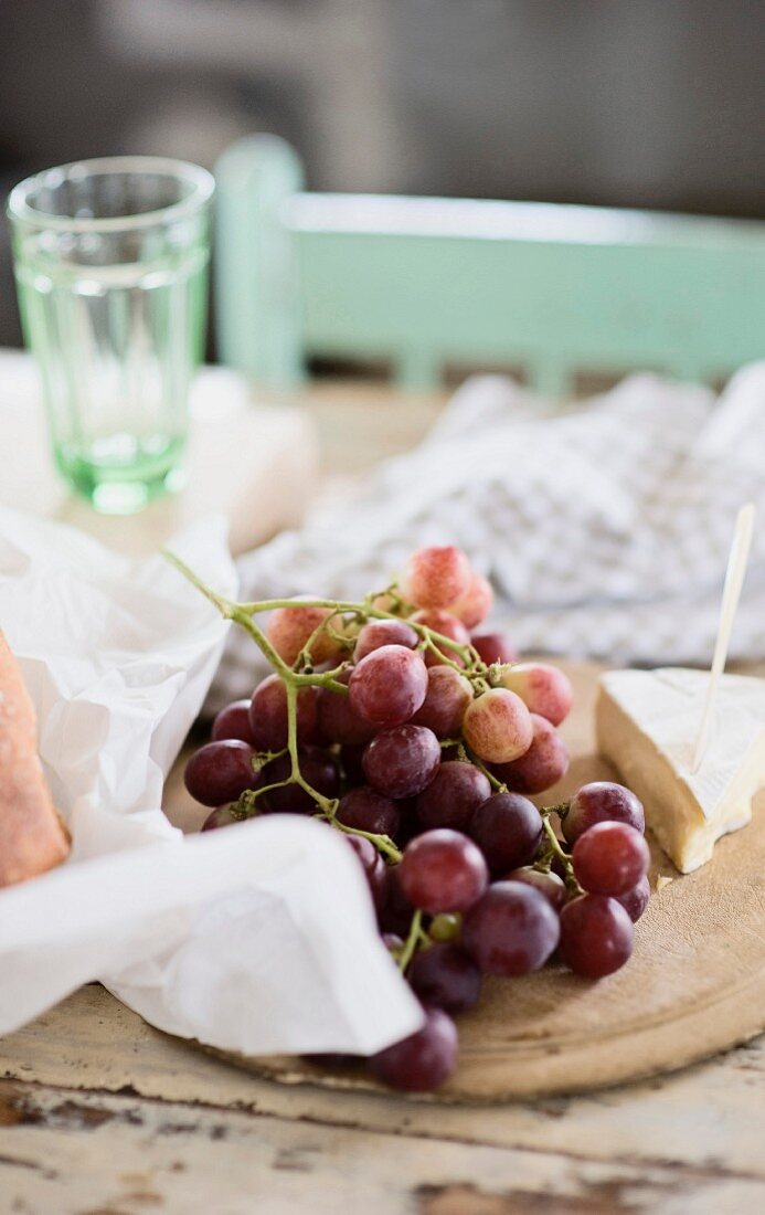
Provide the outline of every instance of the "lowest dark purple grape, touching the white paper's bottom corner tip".
{"type": "Polygon", "coordinates": [[[402,1092],[431,1092],[457,1067],[457,1027],[441,1008],[425,1008],[425,1024],[372,1057],[375,1074],[402,1092]]]}

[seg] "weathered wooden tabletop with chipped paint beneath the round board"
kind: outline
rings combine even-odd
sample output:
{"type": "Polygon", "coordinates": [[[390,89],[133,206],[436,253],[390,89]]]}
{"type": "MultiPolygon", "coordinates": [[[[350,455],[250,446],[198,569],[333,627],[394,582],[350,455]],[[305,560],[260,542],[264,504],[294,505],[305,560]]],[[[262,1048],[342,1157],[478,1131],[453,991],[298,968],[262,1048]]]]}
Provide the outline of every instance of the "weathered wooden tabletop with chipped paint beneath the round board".
{"type": "MultiPolygon", "coordinates": [[[[357,396],[313,396],[330,468],[433,411],[357,396]]],[[[260,1080],[90,985],[0,1041],[0,1076],[2,1215],[765,1210],[765,1039],[589,1096],[437,1107],[260,1080]]]]}

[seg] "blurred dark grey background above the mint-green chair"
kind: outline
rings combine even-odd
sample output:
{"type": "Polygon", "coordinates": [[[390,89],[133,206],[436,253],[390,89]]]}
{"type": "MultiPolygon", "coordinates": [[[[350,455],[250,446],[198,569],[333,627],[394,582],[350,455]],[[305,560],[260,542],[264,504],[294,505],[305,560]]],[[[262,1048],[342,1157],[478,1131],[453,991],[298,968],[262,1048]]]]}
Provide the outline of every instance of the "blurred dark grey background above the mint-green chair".
{"type": "Polygon", "coordinates": [[[312,188],[763,217],[764,63],[761,0],[0,0],[0,196],[268,130],[312,188]]]}

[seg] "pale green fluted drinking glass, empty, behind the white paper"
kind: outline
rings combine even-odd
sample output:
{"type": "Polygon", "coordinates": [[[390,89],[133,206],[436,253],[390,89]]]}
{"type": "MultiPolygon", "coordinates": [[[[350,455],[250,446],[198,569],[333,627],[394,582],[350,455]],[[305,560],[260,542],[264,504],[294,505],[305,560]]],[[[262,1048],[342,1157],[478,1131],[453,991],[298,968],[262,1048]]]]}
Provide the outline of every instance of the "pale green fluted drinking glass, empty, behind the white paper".
{"type": "Polygon", "coordinates": [[[104,514],[183,481],[204,350],[212,176],[158,157],[67,164],[16,186],[19,311],[56,464],[104,514]]]}

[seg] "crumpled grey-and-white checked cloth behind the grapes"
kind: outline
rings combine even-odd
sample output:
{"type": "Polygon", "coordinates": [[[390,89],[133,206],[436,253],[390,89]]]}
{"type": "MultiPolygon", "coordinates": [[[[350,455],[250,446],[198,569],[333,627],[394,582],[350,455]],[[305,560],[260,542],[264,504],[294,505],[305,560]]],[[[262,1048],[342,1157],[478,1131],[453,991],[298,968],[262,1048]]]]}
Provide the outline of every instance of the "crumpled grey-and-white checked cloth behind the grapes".
{"type": "MultiPolygon", "coordinates": [[[[613,665],[707,663],[738,507],[759,507],[732,659],[765,657],[765,363],[719,399],[635,375],[576,409],[481,377],[352,501],[239,564],[248,600],[353,598],[421,544],[461,544],[526,651],[613,665]]],[[[208,701],[248,695],[259,656],[231,635],[208,701]]]]}

